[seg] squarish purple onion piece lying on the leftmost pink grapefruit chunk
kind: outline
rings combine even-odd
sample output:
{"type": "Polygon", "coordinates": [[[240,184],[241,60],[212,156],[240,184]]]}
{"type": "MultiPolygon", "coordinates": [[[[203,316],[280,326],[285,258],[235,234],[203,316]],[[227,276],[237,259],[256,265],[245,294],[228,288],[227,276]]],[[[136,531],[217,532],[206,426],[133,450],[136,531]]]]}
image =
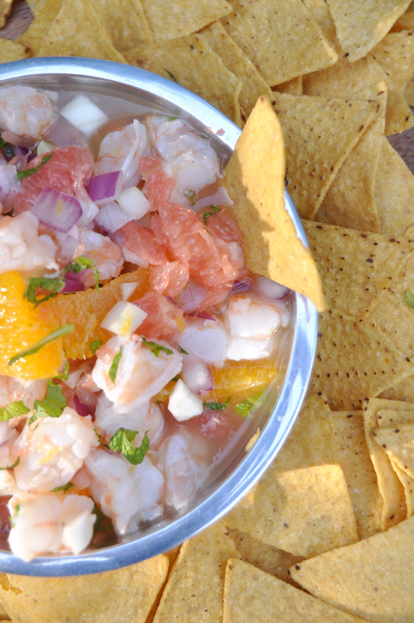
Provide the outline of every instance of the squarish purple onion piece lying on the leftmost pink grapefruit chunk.
{"type": "Polygon", "coordinates": [[[66,233],[79,221],[82,208],[76,197],[54,188],[43,188],[34,200],[32,212],[43,225],[66,233]]]}

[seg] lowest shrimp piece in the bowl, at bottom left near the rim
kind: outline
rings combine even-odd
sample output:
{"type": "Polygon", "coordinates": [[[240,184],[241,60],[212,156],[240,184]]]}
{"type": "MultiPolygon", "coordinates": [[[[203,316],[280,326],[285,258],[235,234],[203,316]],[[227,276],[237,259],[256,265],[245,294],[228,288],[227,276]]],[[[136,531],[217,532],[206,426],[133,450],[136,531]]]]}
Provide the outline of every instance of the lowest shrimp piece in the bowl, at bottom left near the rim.
{"type": "Polygon", "coordinates": [[[96,515],[86,495],[19,492],[8,507],[10,549],[26,562],[43,552],[79,554],[92,539],[96,515]]]}

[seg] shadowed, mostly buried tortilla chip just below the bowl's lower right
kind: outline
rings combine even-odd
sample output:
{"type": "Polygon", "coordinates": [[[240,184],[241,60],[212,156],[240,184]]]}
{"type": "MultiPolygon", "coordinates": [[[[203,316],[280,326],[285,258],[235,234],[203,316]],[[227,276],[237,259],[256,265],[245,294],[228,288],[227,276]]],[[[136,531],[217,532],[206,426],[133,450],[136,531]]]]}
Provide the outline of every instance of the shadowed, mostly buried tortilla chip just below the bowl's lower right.
{"type": "Polygon", "coordinates": [[[304,560],[302,556],[294,556],[233,528],[228,528],[228,533],[244,562],[253,564],[262,571],[279,577],[279,580],[293,582],[288,572],[289,567],[297,562],[302,562],[304,560]]]}

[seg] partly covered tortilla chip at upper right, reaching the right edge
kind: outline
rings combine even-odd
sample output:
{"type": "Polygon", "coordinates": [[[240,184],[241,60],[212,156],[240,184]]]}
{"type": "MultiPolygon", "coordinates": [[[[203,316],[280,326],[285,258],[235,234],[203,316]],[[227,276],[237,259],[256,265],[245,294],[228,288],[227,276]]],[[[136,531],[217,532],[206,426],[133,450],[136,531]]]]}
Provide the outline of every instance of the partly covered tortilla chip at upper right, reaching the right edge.
{"type": "Polygon", "coordinates": [[[351,93],[362,90],[366,85],[382,80],[385,80],[388,86],[386,135],[412,128],[414,115],[411,114],[402,93],[377,61],[369,55],[355,63],[349,63],[347,59],[339,59],[331,68],[304,76],[304,94],[348,97],[351,93]]]}

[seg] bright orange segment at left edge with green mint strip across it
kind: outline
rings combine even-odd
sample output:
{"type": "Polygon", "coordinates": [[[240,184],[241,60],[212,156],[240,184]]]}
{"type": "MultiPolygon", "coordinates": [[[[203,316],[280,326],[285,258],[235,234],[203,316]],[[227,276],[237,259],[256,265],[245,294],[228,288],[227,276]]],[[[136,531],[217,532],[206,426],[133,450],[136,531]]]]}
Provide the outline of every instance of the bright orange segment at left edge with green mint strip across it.
{"type": "Polygon", "coordinates": [[[39,308],[23,299],[25,288],[17,271],[0,275],[0,374],[21,379],[54,377],[63,362],[61,338],[45,344],[34,355],[21,357],[8,365],[14,355],[60,326],[42,317],[39,308]]]}

